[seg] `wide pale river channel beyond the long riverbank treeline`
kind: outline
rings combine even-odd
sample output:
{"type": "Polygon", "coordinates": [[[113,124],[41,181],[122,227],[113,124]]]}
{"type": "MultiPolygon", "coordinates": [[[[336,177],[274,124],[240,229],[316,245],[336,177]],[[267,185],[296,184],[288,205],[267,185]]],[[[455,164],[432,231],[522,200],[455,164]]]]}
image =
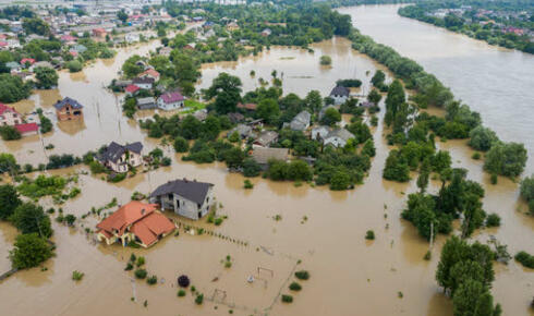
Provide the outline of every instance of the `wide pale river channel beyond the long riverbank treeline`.
{"type": "MultiPolygon", "coordinates": [[[[534,56],[430,24],[402,17],[399,5],[362,5],[350,14],[363,34],[418,62],[482,114],[506,142],[524,143],[534,155],[534,56]]],[[[529,159],[526,173],[534,172],[529,159]]]]}

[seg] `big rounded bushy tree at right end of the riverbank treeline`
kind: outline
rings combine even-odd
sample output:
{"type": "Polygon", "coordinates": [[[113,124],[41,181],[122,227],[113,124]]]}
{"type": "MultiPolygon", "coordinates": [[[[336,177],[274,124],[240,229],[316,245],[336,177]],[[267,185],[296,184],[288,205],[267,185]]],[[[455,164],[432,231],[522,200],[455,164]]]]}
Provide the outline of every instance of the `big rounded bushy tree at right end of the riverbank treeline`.
{"type": "Polygon", "coordinates": [[[526,149],[523,144],[496,143],[486,154],[484,170],[514,178],[523,172],[526,159],[526,149]]]}

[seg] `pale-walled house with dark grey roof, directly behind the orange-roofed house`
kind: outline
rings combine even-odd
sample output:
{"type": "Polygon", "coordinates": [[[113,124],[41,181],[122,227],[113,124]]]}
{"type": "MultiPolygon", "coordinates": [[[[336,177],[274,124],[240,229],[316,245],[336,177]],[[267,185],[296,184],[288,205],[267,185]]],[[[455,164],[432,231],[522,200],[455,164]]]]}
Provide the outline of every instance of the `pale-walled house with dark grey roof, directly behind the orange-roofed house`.
{"type": "Polygon", "coordinates": [[[150,194],[150,202],[161,209],[171,209],[175,214],[201,219],[209,212],[215,203],[214,184],[187,179],[169,181],[150,194]]]}

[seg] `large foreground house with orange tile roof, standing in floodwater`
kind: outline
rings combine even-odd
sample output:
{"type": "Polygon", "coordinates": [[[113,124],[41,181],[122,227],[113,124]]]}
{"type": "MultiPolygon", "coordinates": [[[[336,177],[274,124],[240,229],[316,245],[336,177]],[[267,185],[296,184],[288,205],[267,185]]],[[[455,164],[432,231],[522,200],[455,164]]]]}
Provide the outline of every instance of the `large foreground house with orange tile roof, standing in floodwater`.
{"type": "Polygon", "coordinates": [[[132,200],[105,218],[97,227],[97,240],[110,245],[134,242],[149,247],[173,232],[177,226],[157,210],[157,204],[132,200]]]}

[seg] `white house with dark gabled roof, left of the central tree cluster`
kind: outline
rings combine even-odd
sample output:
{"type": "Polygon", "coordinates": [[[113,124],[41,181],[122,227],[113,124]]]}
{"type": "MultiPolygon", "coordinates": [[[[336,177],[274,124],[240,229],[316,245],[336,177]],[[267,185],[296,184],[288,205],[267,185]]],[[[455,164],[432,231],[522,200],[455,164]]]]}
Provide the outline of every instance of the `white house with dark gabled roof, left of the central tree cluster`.
{"type": "Polygon", "coordinates": [[[98,157],[100,162],[118,173],[124,173],[130,170],[131,167],[138,167],[143,165],[143,144],[135,142],[126,144],[124,146],[111,142],[106,147],[106,150],[98,157]]]}

